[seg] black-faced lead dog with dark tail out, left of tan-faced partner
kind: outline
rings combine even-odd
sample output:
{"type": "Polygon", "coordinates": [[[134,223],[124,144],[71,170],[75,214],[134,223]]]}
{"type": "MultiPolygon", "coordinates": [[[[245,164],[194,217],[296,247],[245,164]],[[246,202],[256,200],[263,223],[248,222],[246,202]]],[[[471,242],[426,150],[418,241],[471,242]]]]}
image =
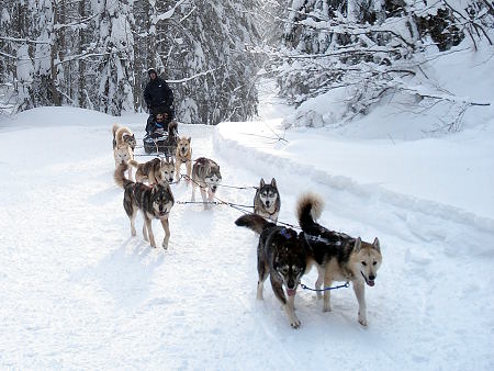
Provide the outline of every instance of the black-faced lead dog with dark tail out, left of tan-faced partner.
{"type": "Polygon", "coordinates": [[[263,283],[269,276],[272,291],[283,305],[290,325],[299,328],[301,323],[295,314],[295,294],[300,279],[307,268],[307,250],[300,235],[291,228],[277,226],[257,214],[243,215],[235,224],[259,234],[257,299],[262,300],[263,283]]]}

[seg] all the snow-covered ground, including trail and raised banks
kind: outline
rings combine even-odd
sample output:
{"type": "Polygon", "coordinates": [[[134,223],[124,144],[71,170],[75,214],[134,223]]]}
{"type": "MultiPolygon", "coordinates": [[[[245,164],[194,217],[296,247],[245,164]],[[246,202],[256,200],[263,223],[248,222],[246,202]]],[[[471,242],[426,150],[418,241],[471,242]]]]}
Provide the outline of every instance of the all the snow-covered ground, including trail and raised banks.
{"type": "MultiPolygon", "coordinates": [[[[492,103],[492,55],[459,49],[427,75],[492,103]]],[[[470,108],[452,134],[430,134],[445,108],[412,114],[393,102],[352,124],[284,131],[293,110],[262,97],[257,122],[180,135],[194,158],[220,164],[233,186],[221,201],[249,206],[260,178],[276,178],[279,221],[296,224],[310,190],[325,199],[323,225],[380,238],[369,327],[349,289],[333,293],[330,313],[299,289],[297,330],[269,284],[257,301],[257,237],[234,225],[237,209],[176,203],[168,250],[143,240],[141,216],[131,237],[111,127],[141,143],[146,116],[43,108],[0,117],[1,370],[494,369],[494,108],[470,108]]],[[[322,115],[337,104],[306,103],[322,115]]],[[[186,183],[172,191],[190,200],[186,183]]],[[[315,272],[302,281],[312,286],[315,272]]]]}

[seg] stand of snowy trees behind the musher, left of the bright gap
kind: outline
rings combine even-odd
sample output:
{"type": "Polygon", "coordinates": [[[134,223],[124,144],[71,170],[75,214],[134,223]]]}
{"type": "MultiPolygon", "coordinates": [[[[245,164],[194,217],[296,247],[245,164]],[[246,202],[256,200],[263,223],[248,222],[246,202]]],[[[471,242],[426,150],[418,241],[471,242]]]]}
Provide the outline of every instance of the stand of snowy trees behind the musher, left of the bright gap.
{"type": "Polygon", "coordinates": [[[259,38],[257,0],[0,4],[0,85],[10,88],[12,100],[22,95],[19,109],[71,104],[116,115],[138,110],[146,71],[154,67],[176,93],[179,120],[215,124],[256,113],[257,67],[248,49],[259,38]],[[33,66],[31,80],[22,83],[20,55],[33,66]]]}

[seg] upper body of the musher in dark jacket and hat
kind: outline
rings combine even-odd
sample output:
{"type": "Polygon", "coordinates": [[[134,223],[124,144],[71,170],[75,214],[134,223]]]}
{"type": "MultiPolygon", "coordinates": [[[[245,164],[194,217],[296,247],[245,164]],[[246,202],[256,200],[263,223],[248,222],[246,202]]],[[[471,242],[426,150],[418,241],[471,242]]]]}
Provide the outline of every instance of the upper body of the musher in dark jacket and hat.
{"type": "Polygon", "coordinates": [[[173,119],[173,92],[168,83],[158,77],[154,68],[149,68],[147,75],[149,75],[149,82],[144,89],[144,100],[149,113],[154,114],[158,108],[161,108],[160,111],[167,112],[170,120],[173,119]]]}

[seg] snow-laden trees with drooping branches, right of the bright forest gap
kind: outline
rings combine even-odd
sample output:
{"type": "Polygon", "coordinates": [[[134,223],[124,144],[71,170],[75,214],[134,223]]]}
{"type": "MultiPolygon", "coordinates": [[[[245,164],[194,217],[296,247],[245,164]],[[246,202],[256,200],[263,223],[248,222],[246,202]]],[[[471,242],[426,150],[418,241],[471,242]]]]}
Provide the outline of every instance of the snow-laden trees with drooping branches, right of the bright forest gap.
{"type": "Polygon", "coordinates": [[[441,99],[422,67],[465,36],[492,44],[494,24],[484,0],[293,0],[284,19],[284,48],[274,55],[281,93],[301,104],[345,89],[346,109],[338,120],[367,114],[396,92],[417,102],[441,99]],[[415,77],[429,86],[428,93],[408,83],[415,77]]]}

